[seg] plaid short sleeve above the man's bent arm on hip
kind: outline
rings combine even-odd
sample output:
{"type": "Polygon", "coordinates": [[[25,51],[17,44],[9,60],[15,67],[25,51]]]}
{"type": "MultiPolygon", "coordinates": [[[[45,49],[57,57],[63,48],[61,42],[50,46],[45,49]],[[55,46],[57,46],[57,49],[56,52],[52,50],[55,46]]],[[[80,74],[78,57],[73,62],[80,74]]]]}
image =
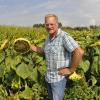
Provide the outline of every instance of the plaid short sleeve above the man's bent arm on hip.
{"type": "Polygon", "coordinates": [[[69,52],[73,52],[76,48],[79,47],[78,43],[68,34],[63,36],[63,46],[69,52]]]}

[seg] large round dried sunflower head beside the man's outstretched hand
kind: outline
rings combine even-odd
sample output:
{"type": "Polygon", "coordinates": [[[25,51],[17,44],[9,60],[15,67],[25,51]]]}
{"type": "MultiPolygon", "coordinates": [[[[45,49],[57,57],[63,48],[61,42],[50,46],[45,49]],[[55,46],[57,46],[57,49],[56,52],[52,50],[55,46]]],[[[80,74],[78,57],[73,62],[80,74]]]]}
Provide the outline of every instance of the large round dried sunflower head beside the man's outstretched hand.
{"type": "Polygon", "coordinates": [[[25,38],[18,38],[15,39],[13,47],[16,52],[25,54],[30,50],[30,42],[25,38]]]}

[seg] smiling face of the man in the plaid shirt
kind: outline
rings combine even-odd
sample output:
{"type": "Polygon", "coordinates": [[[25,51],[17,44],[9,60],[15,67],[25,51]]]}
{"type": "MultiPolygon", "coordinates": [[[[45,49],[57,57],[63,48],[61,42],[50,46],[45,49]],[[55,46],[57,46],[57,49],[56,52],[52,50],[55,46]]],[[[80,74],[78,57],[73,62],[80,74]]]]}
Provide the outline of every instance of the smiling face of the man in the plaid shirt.
{"type": "Polygon", "coordinates": [[[46,28],[46,30],[48,31],[48,33],[50,35],[54,35],[54,34],[57,33],[57,31],[58,31],[58,23],[57,23],[55,17],[48,17],[45,20],[45,28],[46,28]]]}

